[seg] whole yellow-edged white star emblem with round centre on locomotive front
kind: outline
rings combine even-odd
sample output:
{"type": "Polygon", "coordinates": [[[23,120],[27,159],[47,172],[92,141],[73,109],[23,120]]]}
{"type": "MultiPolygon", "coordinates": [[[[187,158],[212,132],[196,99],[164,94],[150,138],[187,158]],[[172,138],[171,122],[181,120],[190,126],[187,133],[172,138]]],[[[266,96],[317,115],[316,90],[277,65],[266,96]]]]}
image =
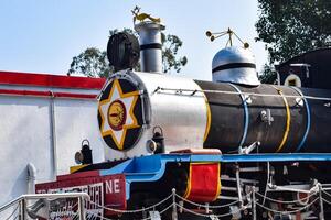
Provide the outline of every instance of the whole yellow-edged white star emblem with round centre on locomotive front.
{"type": "Polygon", "coordinates": [[[110,135],[118,150],[124,148],[127,130],[140,127],[134,113],[138,97],[139,91],[124,94],[118,79],[114,79],[108,98],[99,102],[102,135],[110,135]]]}

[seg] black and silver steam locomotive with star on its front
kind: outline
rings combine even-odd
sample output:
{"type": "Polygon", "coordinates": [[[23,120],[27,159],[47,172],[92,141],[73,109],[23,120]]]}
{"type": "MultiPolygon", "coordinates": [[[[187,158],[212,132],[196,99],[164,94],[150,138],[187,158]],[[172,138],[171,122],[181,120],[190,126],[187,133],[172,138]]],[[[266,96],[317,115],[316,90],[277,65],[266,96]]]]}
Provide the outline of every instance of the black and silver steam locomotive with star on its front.
{"type": "MultiPolygon", "coordinates": [[[[82,164],[54,183],[39,184],[38,193],[102,183],[103,202],[114,209],[151,206],[173,188],[194,202],[239,201],[214,210],[217,215],[239,210],[253,187],[275,200],[299,198],[296,206],[303,206],[300,196],[317,183],[331,183],[330,90],[260,84],[252,53],[234,46],[215,55],[213,81],[166,75],[160,40],[164,26],[140,22],[135,29],[139,43],[128,33],[108,42],[108,59],[118,72],[98,97],[105,162],[93,164],[90,151],[82,148],[76,156],[82,164]],[[135,72],[139,55],[142,72],[135,72]]],[[[303,212],[313,216],[317,210],[303,212]]],[[[259,219],[271,218],[259,211],[259,219]]],[[[170,216],[164,212],[162,218],[170,216]]],[[[229,218],[250,219],[252,213],[238,211],[229,218]]]]}

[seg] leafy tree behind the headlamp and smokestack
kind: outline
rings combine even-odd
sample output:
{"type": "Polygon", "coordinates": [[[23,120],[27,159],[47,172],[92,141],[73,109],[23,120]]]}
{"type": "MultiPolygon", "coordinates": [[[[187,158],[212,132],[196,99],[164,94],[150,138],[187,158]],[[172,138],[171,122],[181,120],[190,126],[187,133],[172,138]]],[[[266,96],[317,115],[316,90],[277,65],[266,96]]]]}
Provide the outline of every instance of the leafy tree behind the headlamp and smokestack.
{"type": "MultiPolygon", "coordinates": [[[[124,32],[134,34],[138,37],[137,33],[131,29],[124,29],[124,32]]],[[[118,33],[118,30],[110,30],[109,35],[118,33]]],[[[178,51],[183,42],[175,35],[161,33],[162,43],[162,63],[166,73],[175,70],[179,73],[182,66],[185,66],[188,58],[185,56],[179,57],[178,51]]],[[[136,70],[140,69],[138,64],[136,70]]],[[[107,77],[109,73],[114,73],[114,68],[109,66],[107,61],[107,53],[96,47],[89,47],[82,52],[78,56],[74,56],[68,69],[71,74],[83,74],[88,77],[107,77]]]]}

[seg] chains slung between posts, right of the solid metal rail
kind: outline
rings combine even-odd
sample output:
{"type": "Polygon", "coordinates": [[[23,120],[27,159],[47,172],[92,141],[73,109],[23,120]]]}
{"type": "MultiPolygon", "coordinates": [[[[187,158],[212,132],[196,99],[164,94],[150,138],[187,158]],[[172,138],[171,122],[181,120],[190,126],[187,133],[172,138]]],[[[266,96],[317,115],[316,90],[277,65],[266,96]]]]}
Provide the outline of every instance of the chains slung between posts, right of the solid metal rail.
{"type": "MultiPolygon", "coordinates": [[[[330,190],[330,189],[328,189],[330,190]]],[[[327,190],[322,189],[321,185],[314,186],[311,188],[310,194],[306,197],[302,197],[301,199],[293,199],[293,200],[278,200],[278,199],[274,199],[267,196],[264,196],[263,194],[259,194],[258,191],[255,190],[255,187],[252,188],[252,191],[248,193],[246,195],[247,201],[246,205],[242,205],[239,200],[235,200],[228,204],[224,204],[224,205],[209,205],[209,204],[199,204],[199,202],[194,202],[191,201],[178,194],[175,194],[175,190],[172,191],[171,195],[169,195],[168,197],[166,197],[164,199],[162,199],[161,201],[157,202],[156,205],[152,205],[150,207],[147,208],[141,208],[138,210],[119,210],[119,209],[113,209],[113,208],[107,208],[107,207],[103,207],[105,210],[110,210],[110,211],[115,211],[118,213],[138,213],[138,212],[146,212],[146,211],[150,211],[150,210],[156,210],[156,207],[168,202],[170,199],[172,198],[171,204],[163,208],[163,209],[158,209],[159,215],[162,215],[163,212],[170,210],[172,208],[172,219],[177,220],[178,219],[178,212],[188,212],[194,216],[199,216],[199,217],[205,217],[205,218],[210,218],[210,219],[215,219],[215,218],[223,218],[223,217],[228,217],[232,215],[236,215],[238,212],[242,212],[246,209],[250,209],[252,210],[252,218],[253,220],[256,220],[257,218],[257,209],[260,210],[266,210],[269,211],[274,215],[296,215],[298,212],[301,212],[303,210],[307,210],[309,208],[311,208],[311,206],[317,205],[318,201],[320,202],[320,215],[319,215],[319,219],[323,220],[324,219],[324,213],[323,213],[323,208],[321,207],[321,202],[327,202],[328,205],[331,205],[331,194],[329,194],[327,190]],[[318,190],[317,190],[318,188],[318,190]],[[325,198],[323,198],[323,196],[328,196],[330,201],[325,198]],[[273,209],[271,207],[268,207],[261,202],[259,202],[259,200],[265,199],[267,201],[270,202],[276,202],[276,204],[282,204],[282,205],[290,205],[290,204],[299,204],[300,201],[309,201],[306,205],[298,207],[296,209],[291,209],[291,210],[277,210],[277,209],[273,209]],[[184,206],[184,202],[186,202],[188,205],[190,205],[191,207],[188,208],[184,206]],[[193,207],[197,207],[199,209],[203,208],[203,209],[213,209],[213,211],[211,213],[209,213],[209,211],[196,211],[195,209],[192,209],[193,207]],[[221,208],[229,208],[231,206],[238,206],[238,208],[236,210],[231,210],[226,213],[213,213],[214,211],[217,211],[217,209],[221,208]]],[[[141,215],[142,216],[142,215],[141,215]]],[[[106,217],[99,217],[100,219],[104,220],[116,220],[116,219],[109,219],[106,217]]],[[[152,217],[147,217],[147,218],[141,218],[139,220],[150,220],[152,219],[152,217]]],[[[92,219],[87,219],[87,220],[92,220],[92,219]]]]}

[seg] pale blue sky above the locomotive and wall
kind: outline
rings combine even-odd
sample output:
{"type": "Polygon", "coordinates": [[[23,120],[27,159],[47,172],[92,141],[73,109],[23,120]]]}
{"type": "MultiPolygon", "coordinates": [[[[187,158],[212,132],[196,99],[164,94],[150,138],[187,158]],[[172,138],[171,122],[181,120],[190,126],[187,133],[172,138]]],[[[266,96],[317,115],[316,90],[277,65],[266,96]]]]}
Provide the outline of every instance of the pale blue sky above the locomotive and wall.
{"type": "Polygon", "coordinates": [[[183,41],[189,62],[172,74],[211,80],[213,56],[227,40],[210,42],[207,30],[234,30],[249,43],[257,70],[267,61],[264,43],[254,41],[257,0],[0,0],[0,70],[65,75],[85,48],[106,50],[109,30],[132,28],[135,6],[183,41]]]}

